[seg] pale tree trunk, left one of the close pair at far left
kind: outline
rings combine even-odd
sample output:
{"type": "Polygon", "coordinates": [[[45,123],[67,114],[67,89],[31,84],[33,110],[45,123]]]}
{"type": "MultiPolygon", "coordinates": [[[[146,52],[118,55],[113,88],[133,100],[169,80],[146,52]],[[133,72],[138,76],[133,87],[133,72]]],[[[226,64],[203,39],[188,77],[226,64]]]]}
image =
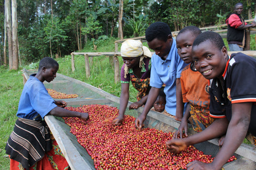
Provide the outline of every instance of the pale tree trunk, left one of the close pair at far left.
{"type": "Polygon", "coordinates": [[[12,70],[12,15],[11,15],[11,2],[5,0],[6,4],[6,28],[8,35],[8,54],[9,54],[9,70],[12,70]]]}

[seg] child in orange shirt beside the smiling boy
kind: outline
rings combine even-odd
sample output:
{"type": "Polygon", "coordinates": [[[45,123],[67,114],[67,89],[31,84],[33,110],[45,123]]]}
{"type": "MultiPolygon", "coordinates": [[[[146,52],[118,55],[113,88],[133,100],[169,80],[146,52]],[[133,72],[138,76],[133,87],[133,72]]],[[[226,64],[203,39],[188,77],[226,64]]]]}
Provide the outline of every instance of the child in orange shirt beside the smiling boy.
{"type": "Polygon", "coordinates": [[[201,132],[214,121],[209,114],[209,80],[195,69],[191,55],[193,42],[201,33],[199,28],[188,26],[183,28],[176,38],[178,54],[189,65],[183,69],[180,77],[183,103],[188,105],[174,138],[182,138],[183,130],[188,137],[188,119],[196,132],[201,132]]]}

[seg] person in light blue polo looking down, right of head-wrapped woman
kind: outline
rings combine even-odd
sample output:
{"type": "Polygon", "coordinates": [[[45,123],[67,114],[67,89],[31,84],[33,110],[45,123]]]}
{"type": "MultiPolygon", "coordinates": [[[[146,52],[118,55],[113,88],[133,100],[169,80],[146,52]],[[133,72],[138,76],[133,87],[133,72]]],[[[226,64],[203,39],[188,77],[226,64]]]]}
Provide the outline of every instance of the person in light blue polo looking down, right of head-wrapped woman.
{"type": "Polygon", "coordinates": [[[172,32],[164,22],[155,22],[146,30],[148,47],[155,51],[152,56],[152,68],[150,75],[150,86],[148,99],[141,115],[135,120],[135,126],[142,128],[147,114],[153,106],[162,85],[165,84],[166,95],[165,110],[173,115],[176,120],[181,121],[183,117],[183,102],[180,86],[180,74],[187,65],[178,55],[176,41],[172,38],[172,32]],[[176,109],[176,105],[177,107],[176,109]],[[181,106],[180,106],[181,105],[181,106]]]}

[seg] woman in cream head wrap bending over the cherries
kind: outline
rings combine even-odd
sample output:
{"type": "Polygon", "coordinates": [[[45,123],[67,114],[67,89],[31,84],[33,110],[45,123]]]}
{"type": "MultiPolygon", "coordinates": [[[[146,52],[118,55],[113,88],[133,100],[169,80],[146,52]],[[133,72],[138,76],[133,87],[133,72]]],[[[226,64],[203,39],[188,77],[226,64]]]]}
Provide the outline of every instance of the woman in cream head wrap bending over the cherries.
{"type": "Polygon", "coordinates": [[[121,56],[124,65],[121,69],[121,96],[119,116],[113,121],[120,125],[124,118],[124,112],[129,101],[130,81],[135,89],[138,90],[137,102],[130,105],[129,109],[137,109],[147,101],[150,90],[149,79],[151,69],[151,52],[143,46],[140,40],[126,40],[121,46],[121,56]]]}

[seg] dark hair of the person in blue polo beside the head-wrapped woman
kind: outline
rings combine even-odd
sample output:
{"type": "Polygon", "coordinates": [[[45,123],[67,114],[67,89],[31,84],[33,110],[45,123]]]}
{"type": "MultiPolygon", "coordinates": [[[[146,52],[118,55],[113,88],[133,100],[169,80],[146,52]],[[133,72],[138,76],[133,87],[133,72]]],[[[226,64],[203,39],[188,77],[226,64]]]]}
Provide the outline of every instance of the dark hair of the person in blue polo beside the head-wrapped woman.
{"type": "Polygon", "coordinates": [[[150,24],[145,33],[148,42],[155,38],[166,42],[169,35],[172,35],[172,31],[169,25],[164,22],[154,22],[153,24],[150,24]]]}

